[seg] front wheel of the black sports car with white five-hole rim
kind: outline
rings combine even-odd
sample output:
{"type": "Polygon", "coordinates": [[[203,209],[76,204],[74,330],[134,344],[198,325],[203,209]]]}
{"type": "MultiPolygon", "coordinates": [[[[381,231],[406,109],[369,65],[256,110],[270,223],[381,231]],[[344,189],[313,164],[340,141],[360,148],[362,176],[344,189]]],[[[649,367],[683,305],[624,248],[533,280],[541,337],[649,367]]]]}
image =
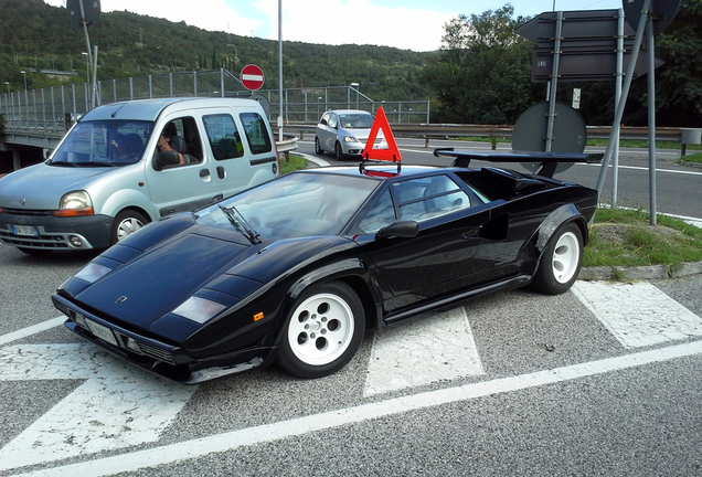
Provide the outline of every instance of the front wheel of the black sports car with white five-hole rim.
{"type": "Polygon", "coordinates": [[[365,331],[363,304],[343,282],[311,287],[292,305],[277,362],[292,375],[322,378],[355,356],[365,331]]]}

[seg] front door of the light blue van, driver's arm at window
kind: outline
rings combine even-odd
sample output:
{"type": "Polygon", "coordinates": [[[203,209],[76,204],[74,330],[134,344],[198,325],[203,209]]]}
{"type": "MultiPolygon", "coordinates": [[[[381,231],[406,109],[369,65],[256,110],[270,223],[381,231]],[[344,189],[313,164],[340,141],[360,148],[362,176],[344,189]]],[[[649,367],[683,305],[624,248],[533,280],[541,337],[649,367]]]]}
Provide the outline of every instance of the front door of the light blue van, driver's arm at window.
{"type": "Polygon", "coordinates": [[[196,120],[193,116],[171,115],[157,127],[147,150],[150,157],[146,165],[146,179],[151,202],[159,216],[185,212],[210,202],[215,195],[212,159],[203,152],[196,120]],[[161,131],[169,123],[178,132],[171,142],[177,145],[183,163],[169,167],[157,166],[161,131]]]}

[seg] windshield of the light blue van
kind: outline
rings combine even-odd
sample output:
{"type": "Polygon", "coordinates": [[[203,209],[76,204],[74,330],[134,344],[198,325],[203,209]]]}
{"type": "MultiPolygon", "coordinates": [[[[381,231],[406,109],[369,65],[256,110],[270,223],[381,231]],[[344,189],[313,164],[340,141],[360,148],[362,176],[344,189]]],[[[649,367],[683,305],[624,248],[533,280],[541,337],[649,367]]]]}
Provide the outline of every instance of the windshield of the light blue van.
{"type": "Polygon", "coordinates": [[[139,162],[153,121],[81,121],[54,152],[51,166],[119,167],[139,162]]]}

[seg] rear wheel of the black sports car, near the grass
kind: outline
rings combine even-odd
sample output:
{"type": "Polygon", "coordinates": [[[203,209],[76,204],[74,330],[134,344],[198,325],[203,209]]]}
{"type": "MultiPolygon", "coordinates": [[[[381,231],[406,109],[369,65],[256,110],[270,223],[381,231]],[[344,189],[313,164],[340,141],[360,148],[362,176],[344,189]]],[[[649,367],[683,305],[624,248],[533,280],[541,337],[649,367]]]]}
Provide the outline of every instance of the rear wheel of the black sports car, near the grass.
{"type": "Polygon", "coordinates": [[[531,288],[549,295],[571,289],[583,263],[583,234],[573,222],[561,225],[546,245],[531,288]]]}

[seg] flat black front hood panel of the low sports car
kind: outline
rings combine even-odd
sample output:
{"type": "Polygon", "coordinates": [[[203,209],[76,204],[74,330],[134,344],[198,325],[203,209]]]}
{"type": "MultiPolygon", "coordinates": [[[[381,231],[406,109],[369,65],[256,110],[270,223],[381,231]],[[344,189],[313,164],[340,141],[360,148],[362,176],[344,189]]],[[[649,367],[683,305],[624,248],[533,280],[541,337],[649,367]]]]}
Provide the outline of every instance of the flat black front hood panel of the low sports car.
{"type": "Polygon", "coordinates": [[[194,226],[118,266],[75,299],[119,321],[148,329],[222,269],[255,253],[238,232],[211,235],[199,233],[202,229],[194,226]]]}

